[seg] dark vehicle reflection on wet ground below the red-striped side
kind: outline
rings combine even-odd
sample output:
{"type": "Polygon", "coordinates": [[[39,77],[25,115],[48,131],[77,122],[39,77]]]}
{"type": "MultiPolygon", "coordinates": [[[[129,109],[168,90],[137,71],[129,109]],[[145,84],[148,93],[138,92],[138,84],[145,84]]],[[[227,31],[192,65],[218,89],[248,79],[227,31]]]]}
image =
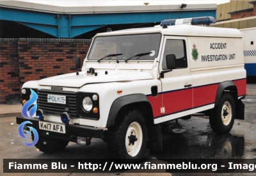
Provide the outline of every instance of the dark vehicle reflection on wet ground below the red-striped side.
{"type": "Polygon", "coordinates": [[[175,159],[228,159],[244,156],[244,136],[230,133],[217,135],[207,126],[205,130],[193,130],[172,134],[163,140],[163,151],[154,153],[156,158],[175,159]]]}

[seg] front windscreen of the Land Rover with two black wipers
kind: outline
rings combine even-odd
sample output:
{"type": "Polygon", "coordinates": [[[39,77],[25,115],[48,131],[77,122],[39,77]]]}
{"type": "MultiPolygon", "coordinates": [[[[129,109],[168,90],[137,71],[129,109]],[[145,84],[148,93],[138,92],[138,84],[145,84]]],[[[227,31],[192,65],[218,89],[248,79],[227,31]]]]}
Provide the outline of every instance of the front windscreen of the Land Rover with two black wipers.
{"type": "Polygon", "coordinates": [[[160,33],[97,36],[88,60],[154,60],[158,55],[160,42],[160,33]]]}

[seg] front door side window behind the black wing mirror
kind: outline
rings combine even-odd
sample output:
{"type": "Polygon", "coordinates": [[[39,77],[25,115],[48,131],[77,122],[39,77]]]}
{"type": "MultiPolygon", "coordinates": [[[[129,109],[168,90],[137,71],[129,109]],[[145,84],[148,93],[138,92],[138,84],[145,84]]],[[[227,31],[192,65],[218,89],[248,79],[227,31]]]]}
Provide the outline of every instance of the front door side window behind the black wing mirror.
{"type": "Polygon", "coordinates": [[[187,56],[186,56],[186,43],[185,40],[166,40],[164,46],[164,56],[162,62],[163,70],[166,70],[166,56],[168,54],[175,54],[176,56],[176,68],[187,68],[187,56]]]}

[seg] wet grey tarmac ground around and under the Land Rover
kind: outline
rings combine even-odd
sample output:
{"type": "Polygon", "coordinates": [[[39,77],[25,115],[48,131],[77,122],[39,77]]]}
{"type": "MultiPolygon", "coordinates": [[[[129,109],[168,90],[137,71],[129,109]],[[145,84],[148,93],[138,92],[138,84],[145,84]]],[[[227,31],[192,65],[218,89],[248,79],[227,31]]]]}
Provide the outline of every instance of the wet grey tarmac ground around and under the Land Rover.
{"type": "MultiPolygon", "coordinates": [[[[148,152],[147,159],[255,159],[256,158],[256,84],[248,84],[249,91],[243,100],[245,104],[244,120],[235,120],[230,133],[216,135],[212,132],[207,116],[193,116],[189,120],[179,120],[186,132],[163,135],[163,151],[148,152]]],[[[0,175],[3,174],[3,158],[8,159],[108,159],[107,144],[99,139],[93,139],[92,145],[82,146],[69,143],[62,152],[44,154],[35,147],[26,147],[17,134],[18,125],[15,117],[0,118],[0,175]]],[[[54,173],[54,175],[83,175],[84,173],[54,173]]],[[[161,173],[161,175],[183,175],[182,173],[161,173]]],[[[4,175],[34,175],[11,174],[4,175]]],[[[36,175],[45,175],[37,173],[36,175]]],[[[51,174],[49,174],[51,175],[51,174]]],[[[86,174],[92,175],[92,174],[86,174]]],[[[93,175],[138,175],[125,172],[95,173],[93,175]]],[[[156,175],[147,173],[140,175],[156,175]]],[[[159,174],[157,174],[159,175],[159,174]]],[[[186,174],[188,175],[188,174],[186,174]]],[[[192,175],[192,174],[189,174],[192,175]]],[[[199,174],[193,174],[199,175],[199,174]]],[[[231,173],[204,173],[203,175],[234,175],[231,173]]],[[[252,173],[239,173],[239,175],[252,175],[252,173]]]]}

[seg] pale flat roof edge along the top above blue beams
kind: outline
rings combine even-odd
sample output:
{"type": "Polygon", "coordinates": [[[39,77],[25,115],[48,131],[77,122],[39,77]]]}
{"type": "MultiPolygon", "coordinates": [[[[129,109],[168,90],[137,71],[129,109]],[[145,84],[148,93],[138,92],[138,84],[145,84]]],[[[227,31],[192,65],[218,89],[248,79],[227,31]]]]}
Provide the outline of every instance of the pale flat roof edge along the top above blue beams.
{"type": "Polygon", "coordinates": [[[24,1],[0,1],[0,6],[33,10],[49,13],[131,13],[131,12],[170,12],[170,11],[193,11],[193,10],[216,10],[217,4],[188,4],[181,9],[180,4],[144,5],[141,6],[54,6],[49,4],[29,3],[24,1]]]}

